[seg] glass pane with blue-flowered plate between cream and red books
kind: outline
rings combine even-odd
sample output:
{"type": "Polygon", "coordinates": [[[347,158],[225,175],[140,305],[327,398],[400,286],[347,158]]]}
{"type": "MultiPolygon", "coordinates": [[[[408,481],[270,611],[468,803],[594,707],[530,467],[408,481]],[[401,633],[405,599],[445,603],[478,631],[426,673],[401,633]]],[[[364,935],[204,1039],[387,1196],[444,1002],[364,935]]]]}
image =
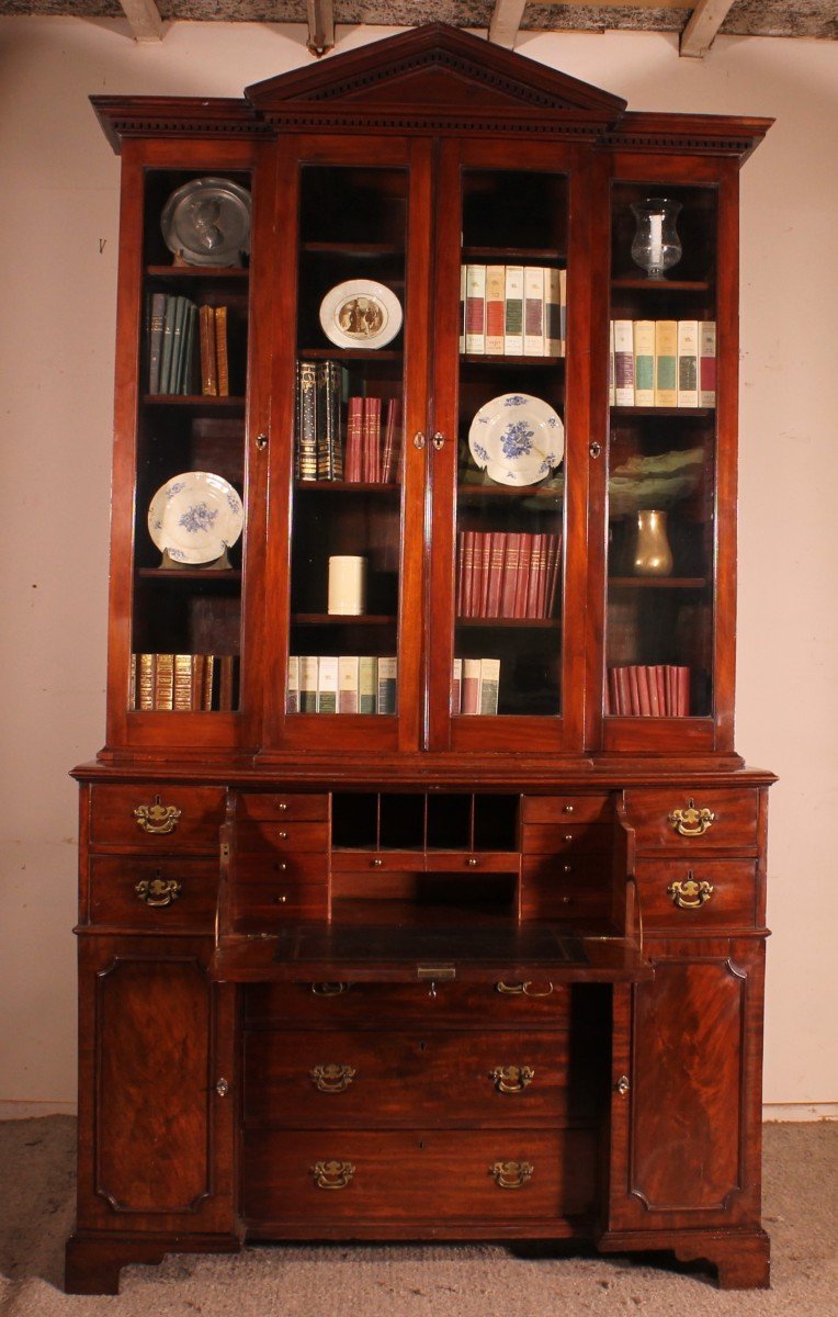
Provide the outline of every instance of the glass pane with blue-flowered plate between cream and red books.
{"type": "Polygon", "coordinates": [[[456,715],[562,706],[567,178],[463,174],[456,715]]]}

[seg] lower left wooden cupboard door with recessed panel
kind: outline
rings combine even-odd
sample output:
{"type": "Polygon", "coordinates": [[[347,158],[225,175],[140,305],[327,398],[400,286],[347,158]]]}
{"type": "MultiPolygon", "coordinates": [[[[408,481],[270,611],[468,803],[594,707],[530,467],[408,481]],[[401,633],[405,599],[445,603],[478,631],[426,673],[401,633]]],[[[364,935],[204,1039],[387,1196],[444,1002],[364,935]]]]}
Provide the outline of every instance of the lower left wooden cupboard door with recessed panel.
{"type": "Polygon", "coordinates": [[[79,1229],[233,1227],[233,992],[205,940],[80,947],[79,1229]]]}

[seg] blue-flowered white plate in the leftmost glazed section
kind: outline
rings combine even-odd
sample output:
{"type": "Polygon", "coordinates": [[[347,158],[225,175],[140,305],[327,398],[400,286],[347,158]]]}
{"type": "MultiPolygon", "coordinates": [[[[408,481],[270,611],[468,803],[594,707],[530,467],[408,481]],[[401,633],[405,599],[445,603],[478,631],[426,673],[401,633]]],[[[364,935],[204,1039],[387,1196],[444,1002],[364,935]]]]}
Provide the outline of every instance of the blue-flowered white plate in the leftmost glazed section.
{"type": "Polygon", "coordinates": [[[212,562],[235,544],[245,524],[242,500],[222,475],[183,471],[166,481],[149,507],[149,533],[175,562],[212,562]]]}

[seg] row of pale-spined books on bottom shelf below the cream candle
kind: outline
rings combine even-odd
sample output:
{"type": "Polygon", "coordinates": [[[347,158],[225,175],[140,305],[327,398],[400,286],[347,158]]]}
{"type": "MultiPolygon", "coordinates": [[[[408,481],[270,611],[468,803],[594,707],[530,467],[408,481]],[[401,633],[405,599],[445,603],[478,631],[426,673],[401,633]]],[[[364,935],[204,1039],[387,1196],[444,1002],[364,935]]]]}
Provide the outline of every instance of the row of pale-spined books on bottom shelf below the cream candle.
{"type": "Polygon", "coordinates": [[[395,714],[397,658],[291,655],[287,714],[395,714]]]}

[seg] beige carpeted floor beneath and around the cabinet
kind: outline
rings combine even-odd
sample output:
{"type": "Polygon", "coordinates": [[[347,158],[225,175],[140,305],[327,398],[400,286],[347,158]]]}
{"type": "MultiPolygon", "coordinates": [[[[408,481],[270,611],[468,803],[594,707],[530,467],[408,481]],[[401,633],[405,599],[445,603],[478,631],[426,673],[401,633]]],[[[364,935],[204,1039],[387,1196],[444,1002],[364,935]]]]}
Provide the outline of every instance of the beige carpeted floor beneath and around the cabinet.
{"type": "Polygon", "coordinates": [[[495,1245],[254,1247],[129,1267],[67,1297],[74,1122],[0,1123],[0,1317],[838,1317],[838,1125],[768,1125],[772,1289],[721,1292],[666,1258],[516,1256],[495,1245]]]}

